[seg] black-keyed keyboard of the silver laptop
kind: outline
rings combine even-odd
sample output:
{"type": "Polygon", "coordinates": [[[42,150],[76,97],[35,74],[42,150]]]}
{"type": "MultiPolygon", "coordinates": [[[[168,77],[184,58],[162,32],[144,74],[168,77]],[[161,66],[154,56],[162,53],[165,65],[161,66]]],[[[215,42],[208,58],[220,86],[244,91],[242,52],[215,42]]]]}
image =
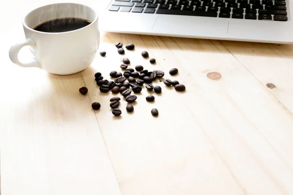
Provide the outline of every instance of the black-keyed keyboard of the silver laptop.
{"type": "Polygon", "coordinates": [[[285,0],[115,0],[114,12],[287,21],[285,0]]]}

